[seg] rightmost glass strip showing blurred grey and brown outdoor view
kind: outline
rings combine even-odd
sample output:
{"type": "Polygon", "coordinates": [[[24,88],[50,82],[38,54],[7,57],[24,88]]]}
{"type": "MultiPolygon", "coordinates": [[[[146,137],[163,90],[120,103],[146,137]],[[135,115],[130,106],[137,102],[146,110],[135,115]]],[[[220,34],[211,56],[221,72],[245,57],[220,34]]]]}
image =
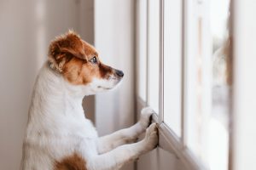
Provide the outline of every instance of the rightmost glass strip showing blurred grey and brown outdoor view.
{"type": "Polygon", "coordinates": [[[229,163],[230,0],[210,2],[212,39],[212,113],[208,131],[210,168],[227,170],[229,163]]]}

